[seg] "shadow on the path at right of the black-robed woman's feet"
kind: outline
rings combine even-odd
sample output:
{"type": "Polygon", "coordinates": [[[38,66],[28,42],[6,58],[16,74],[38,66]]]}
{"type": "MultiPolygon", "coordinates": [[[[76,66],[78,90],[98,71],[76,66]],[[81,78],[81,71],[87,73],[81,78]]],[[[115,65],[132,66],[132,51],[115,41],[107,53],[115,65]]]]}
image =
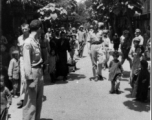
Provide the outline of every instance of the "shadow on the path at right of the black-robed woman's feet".
{"type": "Polygon", "coordinates": [[[70,73],[68,76],[68,81],[80,80],[86,78],[83,74],[70,73]]]}

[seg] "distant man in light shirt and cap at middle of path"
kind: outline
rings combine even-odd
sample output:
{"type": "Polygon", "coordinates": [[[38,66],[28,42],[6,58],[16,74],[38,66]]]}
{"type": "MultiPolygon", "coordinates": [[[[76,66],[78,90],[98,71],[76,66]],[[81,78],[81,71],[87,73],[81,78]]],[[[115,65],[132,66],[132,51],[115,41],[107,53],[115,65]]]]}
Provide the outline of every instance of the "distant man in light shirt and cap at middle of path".
{"type": "Polygon", "coordinates": [[[83,56],[84,46],[86,44],[86,32],[84,31],[83,26],[80,26],[78,31],[78,41],[79,41],[79,54],[78,56],[81,58],[83,56]]]}

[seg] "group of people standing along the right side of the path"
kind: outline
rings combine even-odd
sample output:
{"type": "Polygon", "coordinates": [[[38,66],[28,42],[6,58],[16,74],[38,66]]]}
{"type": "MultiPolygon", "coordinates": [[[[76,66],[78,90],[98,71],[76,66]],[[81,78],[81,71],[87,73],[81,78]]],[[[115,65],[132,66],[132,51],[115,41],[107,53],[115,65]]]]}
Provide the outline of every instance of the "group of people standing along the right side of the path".
{"type": "Polygon", "coordinates": [[[132,39],[131,33],[124,30],[122,36],[114,33],[110,40],[109,30],[104,28],[104,23],[98,23],[98,30],[90,26],[88,37],[88,51],[92,61],[93,77],[90,80],[103,80],[102,69],[109,69],[109,81],[111,81],[110,94],[120,93],[120,81],[125,72],[123,63],[127,59],[130,63],[130,80],[132,97],[145,102],[150,89],[150,45],[151,40],[144,40],[140,29],[135,30],[132,39]],[[146,44],[144,44],[146,42],[146,44]],[[113,44],[113,47],[112,47],[113,44]],[[109,56],[113,60],[109,62],[109,56]],[[118,58],[121,57],[119,60],[118,58]]]}

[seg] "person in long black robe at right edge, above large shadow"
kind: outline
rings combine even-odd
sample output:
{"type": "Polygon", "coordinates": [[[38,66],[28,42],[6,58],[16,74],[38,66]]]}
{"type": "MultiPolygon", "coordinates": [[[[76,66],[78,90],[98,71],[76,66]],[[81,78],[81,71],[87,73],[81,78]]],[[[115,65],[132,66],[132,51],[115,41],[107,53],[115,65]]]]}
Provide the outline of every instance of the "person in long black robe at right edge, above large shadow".
{"type": "Polygon", "coordinates": [[[134,87],[132,91],[132,96],[138,100],[145,101],[148,96],[148,87],[150,84],[150,73],[147,69],[147,61],[142,61],[142,68],[137,76],[134,77],[136,81],[134,82],[134,87]],[[143,67],[143,63],[146,67],[143,67]]]}

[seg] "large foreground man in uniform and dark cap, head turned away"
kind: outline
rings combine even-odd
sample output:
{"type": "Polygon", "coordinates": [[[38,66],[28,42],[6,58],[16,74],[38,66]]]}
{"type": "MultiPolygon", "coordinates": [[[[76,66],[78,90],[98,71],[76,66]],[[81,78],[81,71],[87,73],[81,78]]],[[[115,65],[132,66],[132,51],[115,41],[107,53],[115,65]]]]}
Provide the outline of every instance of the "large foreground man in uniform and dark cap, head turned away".
{"type": "Polygon", "coordinates": [[[41,22],[33,20],[30,23],[30,30],[31,33],[23,46],[26,79],[23,120],[40,120],[43,97],[43,60],[39,44],[41,22]]]}

